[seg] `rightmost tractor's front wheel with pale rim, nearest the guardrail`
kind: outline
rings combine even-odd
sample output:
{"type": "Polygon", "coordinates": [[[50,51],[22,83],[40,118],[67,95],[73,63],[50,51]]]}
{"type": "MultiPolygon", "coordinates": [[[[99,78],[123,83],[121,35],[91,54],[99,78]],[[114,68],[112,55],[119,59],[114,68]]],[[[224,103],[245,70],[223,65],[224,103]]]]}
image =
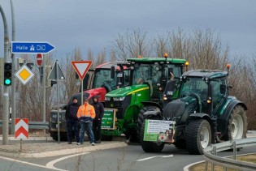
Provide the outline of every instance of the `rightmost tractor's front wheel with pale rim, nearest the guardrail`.
{"type": "Polygon", "coordinates": [[[189,154],[202,155],[211,143],[210,123],[205,119],[192,120],[186,126],[185,139],[189,154]]]}

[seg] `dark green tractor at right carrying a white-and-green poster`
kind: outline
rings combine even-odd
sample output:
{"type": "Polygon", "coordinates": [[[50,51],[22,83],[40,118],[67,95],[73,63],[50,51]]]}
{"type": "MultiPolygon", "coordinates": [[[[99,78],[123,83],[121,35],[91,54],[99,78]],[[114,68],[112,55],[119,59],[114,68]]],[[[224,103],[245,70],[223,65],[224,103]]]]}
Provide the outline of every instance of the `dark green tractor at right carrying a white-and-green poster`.
{"type": "MultiPolygon", "coordinates": [[[[229,65],[227,65],[229,68],[229,65]]],[[[228,96],[228,71],[187,71],[180,77],[179,99],[162,112],[145,111],[141,125],[141,147],[145,152],[161,152],[164,144],[203,154],[210,143],[244,139],[247,107],[228,96]],[[158,128],[161,124],[162,128],[158,128]]]]}

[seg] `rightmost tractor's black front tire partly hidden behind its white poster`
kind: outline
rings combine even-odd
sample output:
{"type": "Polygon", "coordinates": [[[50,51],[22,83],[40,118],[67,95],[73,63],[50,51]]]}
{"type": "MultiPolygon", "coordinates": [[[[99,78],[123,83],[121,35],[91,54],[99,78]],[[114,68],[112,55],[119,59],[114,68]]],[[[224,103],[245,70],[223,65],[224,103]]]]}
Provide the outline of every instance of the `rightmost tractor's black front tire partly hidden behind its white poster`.
{"type": "MultiPolygon", "coordinates": [[[[159,118],[151,118],[152,120],[159,120],[159,118]]],[[[141,125],[141,147],[144,150],[144,152],[161,152],[164,147],[164,143],[154,143],[150,141],[144,141],[144,130],[145,130],[145,120],[141,125]]]]}

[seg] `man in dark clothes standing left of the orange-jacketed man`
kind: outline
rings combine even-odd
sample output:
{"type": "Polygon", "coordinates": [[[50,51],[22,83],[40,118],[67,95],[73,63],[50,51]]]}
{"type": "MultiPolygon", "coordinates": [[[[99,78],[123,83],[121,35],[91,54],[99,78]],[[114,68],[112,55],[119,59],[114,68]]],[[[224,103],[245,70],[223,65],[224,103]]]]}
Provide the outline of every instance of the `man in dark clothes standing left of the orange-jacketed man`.
{"type": "Polygon", "coordinates": [[[79,123],[76,117],[79,105],[77,104],[76,97],[73,97],[73,103],[67,106],[66,110],[66,121],[67,121],[67,141],[68,144],[72,143],[72,130],[74,129],[76,136],[76,143],[79,143],[79,123]]]}

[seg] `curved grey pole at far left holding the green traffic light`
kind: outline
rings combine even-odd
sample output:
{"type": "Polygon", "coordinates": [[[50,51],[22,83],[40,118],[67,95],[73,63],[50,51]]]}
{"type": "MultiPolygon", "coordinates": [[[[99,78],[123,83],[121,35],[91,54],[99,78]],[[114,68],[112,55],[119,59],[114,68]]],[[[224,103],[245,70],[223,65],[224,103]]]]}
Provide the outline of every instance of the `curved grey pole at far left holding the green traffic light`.
{"type": "MultiPolygon", "coordinates": [[[[7,27],[7,18],[2,10],[0,5],[0,12],[2,15],[3,27],[4,27],[4,62],[9,62],[8,58],[8,49],[9,49],[9,36],[8,36],[8,27],[7,27]]],[[[8,135],[9,135],[9,87],[3,86],[2,93],[2,144],[8,145],[8,135]]]]}

